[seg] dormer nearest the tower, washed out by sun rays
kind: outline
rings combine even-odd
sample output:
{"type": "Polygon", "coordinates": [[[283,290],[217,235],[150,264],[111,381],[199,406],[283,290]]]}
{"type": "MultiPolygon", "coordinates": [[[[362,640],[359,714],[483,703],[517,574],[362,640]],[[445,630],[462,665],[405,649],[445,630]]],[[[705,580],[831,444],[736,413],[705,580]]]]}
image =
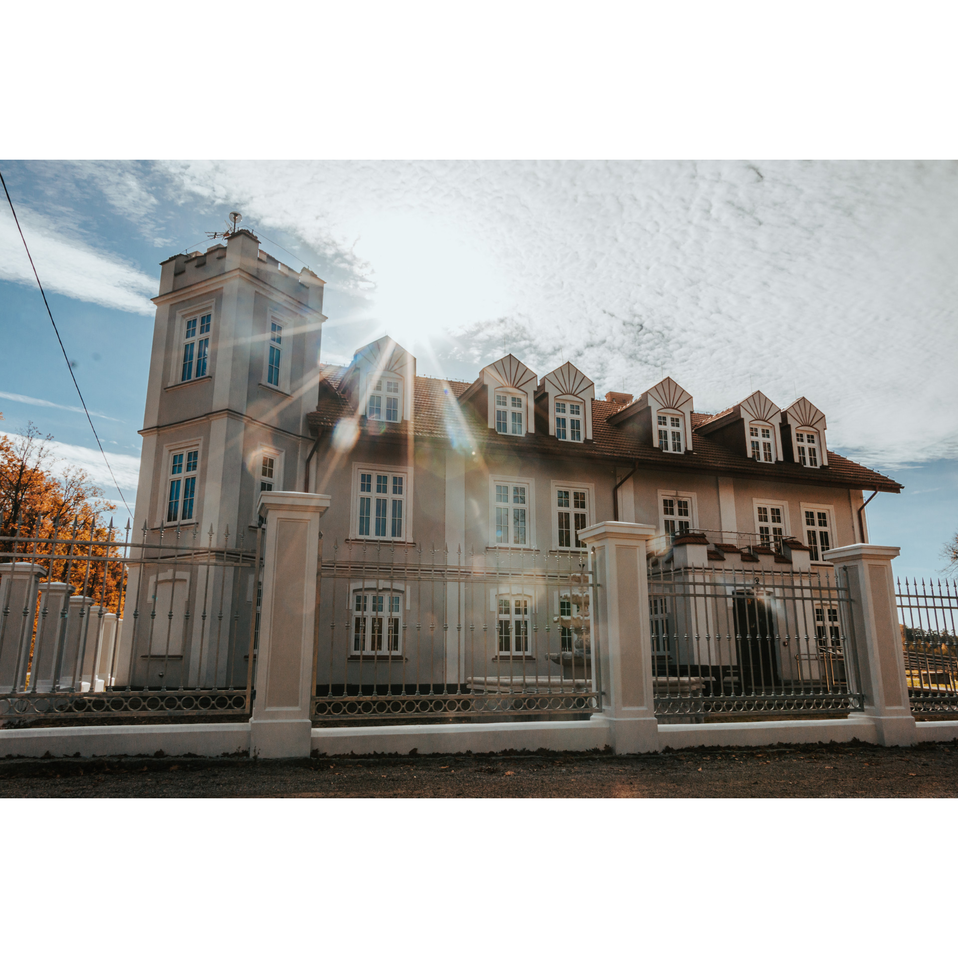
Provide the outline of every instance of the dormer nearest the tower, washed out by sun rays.
{"type": "Polygon", "coordinates": [[[359,411],[385,422],[412,421],[416,356],[391,336],[357,349],[343,386],[359,411]]]}

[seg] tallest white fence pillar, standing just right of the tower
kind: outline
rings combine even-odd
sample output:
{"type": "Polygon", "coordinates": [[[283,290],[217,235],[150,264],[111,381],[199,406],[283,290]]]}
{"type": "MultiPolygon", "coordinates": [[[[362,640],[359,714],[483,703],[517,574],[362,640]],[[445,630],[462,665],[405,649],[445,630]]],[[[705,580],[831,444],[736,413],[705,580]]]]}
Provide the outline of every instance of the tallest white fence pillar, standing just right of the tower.
{"type": "Polygon", "coordinates": [[[266,535],[250,754],[263,759],[309,755],[319,518],[329,506],[328,495],[260,493],[266,535]]]}

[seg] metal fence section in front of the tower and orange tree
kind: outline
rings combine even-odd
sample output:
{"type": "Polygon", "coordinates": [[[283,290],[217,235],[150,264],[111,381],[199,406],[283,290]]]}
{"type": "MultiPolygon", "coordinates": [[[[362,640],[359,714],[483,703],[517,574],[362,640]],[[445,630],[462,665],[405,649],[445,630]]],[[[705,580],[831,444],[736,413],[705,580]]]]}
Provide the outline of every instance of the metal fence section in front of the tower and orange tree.
{"type": "Polygon", "coordinates": [[[244,715],[262,532],[39,520],[0,537],[0,719],[244,715]]]}

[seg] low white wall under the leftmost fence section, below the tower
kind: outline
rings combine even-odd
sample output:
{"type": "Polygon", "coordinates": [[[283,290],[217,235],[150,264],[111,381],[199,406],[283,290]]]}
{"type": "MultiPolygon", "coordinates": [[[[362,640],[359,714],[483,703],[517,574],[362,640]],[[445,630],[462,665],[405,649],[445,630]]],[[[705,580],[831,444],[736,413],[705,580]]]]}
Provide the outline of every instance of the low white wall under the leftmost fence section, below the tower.
{"type": "Polygon", "coordinates": [[[249,722],[195,725],[101,725],[0,729],[0,756],[83,758],[111,755],[236,755],[249,751],[249,722]]]}

